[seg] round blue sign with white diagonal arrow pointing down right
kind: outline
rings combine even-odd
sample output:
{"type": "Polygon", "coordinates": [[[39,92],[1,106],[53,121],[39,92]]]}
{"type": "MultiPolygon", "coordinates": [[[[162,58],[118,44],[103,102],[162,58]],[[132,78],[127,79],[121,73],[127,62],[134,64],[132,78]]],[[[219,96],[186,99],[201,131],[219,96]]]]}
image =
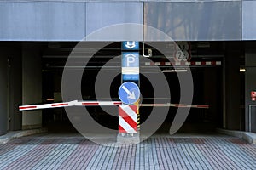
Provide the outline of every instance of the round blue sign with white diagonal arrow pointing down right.
{"type": "Polygon", "coordinates": [[[119,99],[126,105],[136,103],[140,95],[140,89],[134,82],[124,82],[119,88],[119,99]]]}

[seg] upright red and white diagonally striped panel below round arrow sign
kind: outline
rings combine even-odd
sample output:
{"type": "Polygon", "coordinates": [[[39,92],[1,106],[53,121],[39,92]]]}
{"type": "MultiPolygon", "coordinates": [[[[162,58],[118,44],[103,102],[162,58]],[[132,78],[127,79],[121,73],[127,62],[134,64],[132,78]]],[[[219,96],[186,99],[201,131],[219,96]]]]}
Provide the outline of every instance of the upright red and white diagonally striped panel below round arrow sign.
{"type": "Polygon", "coordinates": [[[119,105],[119,133],[137,133],[136,105],[119,105]]]}

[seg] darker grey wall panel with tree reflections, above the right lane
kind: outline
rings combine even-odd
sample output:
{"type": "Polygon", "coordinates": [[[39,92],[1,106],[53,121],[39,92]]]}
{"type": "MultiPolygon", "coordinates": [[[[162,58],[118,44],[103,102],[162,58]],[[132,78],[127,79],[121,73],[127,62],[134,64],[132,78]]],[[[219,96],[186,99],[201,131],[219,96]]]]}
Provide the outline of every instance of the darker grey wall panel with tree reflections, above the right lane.
{"type": "Polygon", "coordinates": [[[241,2],[148,2],[144,22],[175,41],[241,40],[241,2]]]}

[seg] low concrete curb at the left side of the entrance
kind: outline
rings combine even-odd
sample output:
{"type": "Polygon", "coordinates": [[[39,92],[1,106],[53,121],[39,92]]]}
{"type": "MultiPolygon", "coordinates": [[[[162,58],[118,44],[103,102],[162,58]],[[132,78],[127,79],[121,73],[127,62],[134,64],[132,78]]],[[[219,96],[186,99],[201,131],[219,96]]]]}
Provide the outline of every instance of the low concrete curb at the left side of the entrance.
{"type": "Polygon", "coordinates": [[[11,131],[3,136],[0,136],[0,144],[6,144],[11,139],[20,138],[23,136],[29,136],[33,134],[39,134],[39,133],[47,133],[47,128],[37,128],[37,129],[31,129],[31,130],[23,130],[23,131],[11,131]]]}

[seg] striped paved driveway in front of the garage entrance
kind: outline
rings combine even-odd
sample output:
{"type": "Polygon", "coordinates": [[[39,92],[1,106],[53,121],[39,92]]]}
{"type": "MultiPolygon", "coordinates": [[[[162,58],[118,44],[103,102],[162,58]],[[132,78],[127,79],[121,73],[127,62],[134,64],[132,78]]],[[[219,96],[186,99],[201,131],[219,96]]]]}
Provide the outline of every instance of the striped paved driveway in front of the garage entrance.
{"type": "Polygon", "coordinates": [[[30,136],[0,145],[0,169],[256,169],[256,145],[229,136],[156,136],[123,147],[30,136]]]}

